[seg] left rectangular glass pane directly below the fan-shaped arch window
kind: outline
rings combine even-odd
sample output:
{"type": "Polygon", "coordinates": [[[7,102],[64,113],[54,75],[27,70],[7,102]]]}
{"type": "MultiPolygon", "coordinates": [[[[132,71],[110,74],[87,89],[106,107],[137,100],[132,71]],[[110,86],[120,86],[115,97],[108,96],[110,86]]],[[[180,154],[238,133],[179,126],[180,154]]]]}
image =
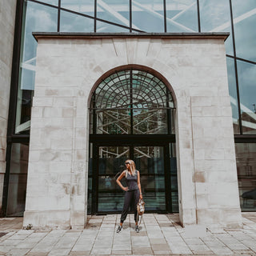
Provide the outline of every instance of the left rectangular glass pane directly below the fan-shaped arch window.
{"type": "Polygon", "coordinates": [[[130,134],[130,110],[97,110],[97,134],[130,134]]]}

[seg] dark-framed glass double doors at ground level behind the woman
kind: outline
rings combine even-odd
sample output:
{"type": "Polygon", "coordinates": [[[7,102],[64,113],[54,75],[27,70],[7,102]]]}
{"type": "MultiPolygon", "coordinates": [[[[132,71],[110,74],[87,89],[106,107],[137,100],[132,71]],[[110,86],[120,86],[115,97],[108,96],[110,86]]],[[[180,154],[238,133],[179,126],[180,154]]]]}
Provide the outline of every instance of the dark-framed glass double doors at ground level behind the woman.
{"type": "MultiPolygon", "coordinates": [[[[172,144],[163,146],[93,146],[90,158],[88,212],[121,212],[124,192],[116,178],[133,159],[141,174],[143,198],[150,212],[176,212],[178,202],[176,158],[172,144]],[[94,157],[93,157],[94,156],[94,157]]],[[[122,179],[126,186],[125,178],[122,179]]]]}

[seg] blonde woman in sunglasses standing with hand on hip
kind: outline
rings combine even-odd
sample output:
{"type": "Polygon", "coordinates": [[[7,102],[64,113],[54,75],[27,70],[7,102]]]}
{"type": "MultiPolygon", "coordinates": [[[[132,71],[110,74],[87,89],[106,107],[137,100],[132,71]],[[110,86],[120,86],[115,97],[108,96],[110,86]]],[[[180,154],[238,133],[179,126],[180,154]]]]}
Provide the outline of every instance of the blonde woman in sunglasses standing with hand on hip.
{"type": "Polygon", "coordinates": [[[137,219],[137,203],[138,199],[142,199],[142,187],[140,182],[139,171],[136,170],[135,163],[133,160],[126,160],[126,170],[122,172],[117,178],[118,185],[122,190],[126,191],[125,202],[123,205],[123,210],[121,214],[120,225],[118,226],[117,233],[122,230],[122,223],[125,221],[128,214],[129,206],[134,207],[134,221],[135,221],[135,231],[138,233],[138,219],[137,219]],[[122,186],[122,178],[126,178],[127,186],[122,186]]]}

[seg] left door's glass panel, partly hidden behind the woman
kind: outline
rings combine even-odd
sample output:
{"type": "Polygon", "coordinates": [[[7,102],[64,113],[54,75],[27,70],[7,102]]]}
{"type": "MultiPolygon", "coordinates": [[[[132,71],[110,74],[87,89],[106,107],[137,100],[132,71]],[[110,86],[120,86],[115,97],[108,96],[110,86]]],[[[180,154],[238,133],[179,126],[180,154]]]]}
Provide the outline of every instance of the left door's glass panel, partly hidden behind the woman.
{"type": "MultiPolygon", "coordinates": [[[[129,147],[101,146],[98,158],[98,211],[122,211],[123,191],[115,181],[115,175],[125,170],[130,158],[129,147]]],[[[124,181],[122,181],[124,182],[124,181]]],[[[125,186],[125,183],[123,183],[125,186]]]]}

